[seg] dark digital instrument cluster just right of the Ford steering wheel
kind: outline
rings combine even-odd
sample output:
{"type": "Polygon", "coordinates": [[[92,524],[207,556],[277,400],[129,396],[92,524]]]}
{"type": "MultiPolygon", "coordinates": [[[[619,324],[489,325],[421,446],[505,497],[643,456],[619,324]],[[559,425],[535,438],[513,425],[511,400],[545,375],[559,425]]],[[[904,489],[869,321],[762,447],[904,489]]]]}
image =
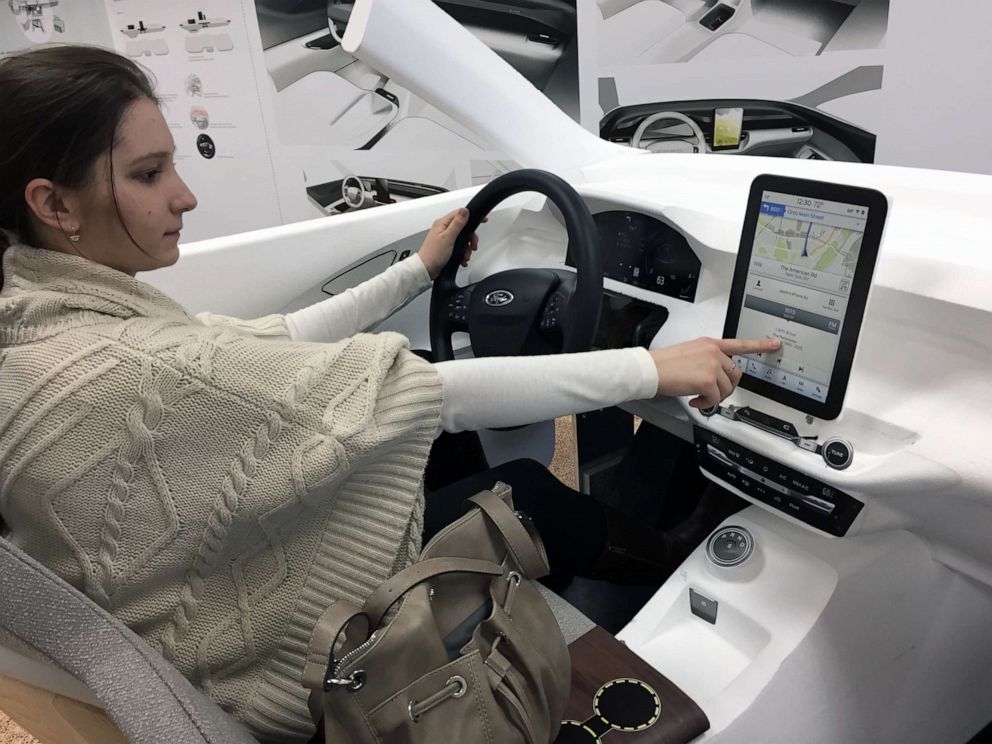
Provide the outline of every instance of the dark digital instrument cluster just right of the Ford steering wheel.
{"type": "MultiPolygon", "coordinates": [[[[680,300],[695,300],[701,263],[678,230],[639,212],[601,212],[593,220],[599,231],[604,276],[680,300]]],[[[571,256],[566,263],[575,265],[571,256]]]]}

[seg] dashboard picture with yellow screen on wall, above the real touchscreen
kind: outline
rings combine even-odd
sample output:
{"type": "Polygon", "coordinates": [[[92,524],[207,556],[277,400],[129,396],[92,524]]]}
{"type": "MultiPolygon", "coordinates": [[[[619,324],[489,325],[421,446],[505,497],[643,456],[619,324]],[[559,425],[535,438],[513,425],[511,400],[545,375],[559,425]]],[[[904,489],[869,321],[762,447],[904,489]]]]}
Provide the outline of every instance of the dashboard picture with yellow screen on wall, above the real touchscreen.
{"type": "Polygon", "coordinates": [[[814,108],[786,101],[666,101],[613,109],[600,122],[610,142],[650,152],[764,155],[872,163],[875,135],[814,108]],[[721,112],[739,111],[736,142],[721,144],[721,112]]]}

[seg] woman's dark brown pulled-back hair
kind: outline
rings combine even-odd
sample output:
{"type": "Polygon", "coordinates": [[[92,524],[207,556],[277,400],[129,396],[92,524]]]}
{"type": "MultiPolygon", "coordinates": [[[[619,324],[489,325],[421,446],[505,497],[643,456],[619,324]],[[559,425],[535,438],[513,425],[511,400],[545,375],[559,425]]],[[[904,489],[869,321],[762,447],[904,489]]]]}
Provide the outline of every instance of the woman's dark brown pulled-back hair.
{"type": "Polygon", "coordinates": [[[148,74],[99,47],[42,47],[0,59],[0,228],[33,242],[25,186],[34,178],[87,185],[140,98],[158,103],[148,74]]]}

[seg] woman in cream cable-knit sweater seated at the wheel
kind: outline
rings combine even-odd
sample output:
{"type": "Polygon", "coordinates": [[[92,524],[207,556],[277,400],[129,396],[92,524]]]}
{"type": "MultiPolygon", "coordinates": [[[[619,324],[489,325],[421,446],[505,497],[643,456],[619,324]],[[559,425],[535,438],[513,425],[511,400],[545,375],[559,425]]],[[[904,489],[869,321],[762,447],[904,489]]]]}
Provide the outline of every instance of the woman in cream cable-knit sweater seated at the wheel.
{"type": "MultiPolygon", "coordinates": [[[[0,513],[265,740],[312,732],[299,679],[321,611],[360,604],[416,558],[442,428],[656,394],[708,406],[740,379],[728,354],[777,346],[431,365],[397,334],[360,333],[429,285],[464,210],[341,297],[193,317],[134,278],[178,259],[196,207],[142,71],[100,49],[38,49],[0,62],[0,100],[0,513]]],[[[607,547],[598,514],[591,553],[607,547]]]]}

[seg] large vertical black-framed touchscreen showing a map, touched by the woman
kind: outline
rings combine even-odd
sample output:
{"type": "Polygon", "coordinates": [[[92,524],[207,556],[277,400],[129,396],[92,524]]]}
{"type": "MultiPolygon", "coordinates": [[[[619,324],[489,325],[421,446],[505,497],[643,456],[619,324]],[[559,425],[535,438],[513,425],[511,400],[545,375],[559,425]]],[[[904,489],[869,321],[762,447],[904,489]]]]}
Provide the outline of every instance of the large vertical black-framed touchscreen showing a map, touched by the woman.
{"type": "Polygon", "coordinates": [[[736,358],[745,374],[742,386],[807,413],[835,417],[885,199],[867,189],[768,176],[755,181],[751,197],[726,335],[777,336],[782,348],[736,358]]]}

